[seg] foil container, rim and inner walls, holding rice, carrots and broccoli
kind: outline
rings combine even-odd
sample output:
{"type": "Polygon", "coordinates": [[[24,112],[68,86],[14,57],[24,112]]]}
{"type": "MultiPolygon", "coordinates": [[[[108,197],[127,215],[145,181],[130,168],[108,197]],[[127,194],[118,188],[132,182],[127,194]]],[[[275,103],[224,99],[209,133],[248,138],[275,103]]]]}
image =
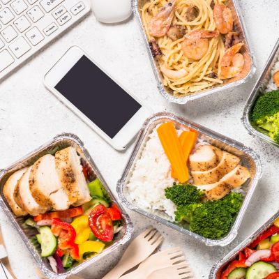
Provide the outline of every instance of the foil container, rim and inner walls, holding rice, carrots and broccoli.
{"type": "Polygon", "coordinates": [[[130,159],[128,160],[126,169],[124,170],[121,179],[117,183],[116,190],[119,195],[119,198],[121,199],[121,202],[125,204],[129,209],[132,209],[137,213],[141,213],[143,216],[146,216],[164,225],[167,225],[168,227],[171,227],[172,229],[175,229],[178,232],[181,232],[188,236],[192,236],[195,239],[204,242],[206,246],[226,246],[227,244],[232,242],[236,237],[237,231],[241,224],[241,220],[243,219],[244,213],[246,212],[252,194],[254,193],[254,190],[257,186],[257,182],[261,177],[262,164],[259,160],[259,156],[257,156],[255,151],[253,151],[252,149],[244,146],[239,142],[236,142],[236,140],[232,140],[229,137],[225,137],[203,126],[200,126],[199,124],[194,123],[193,121],[183,119],[169,112],[160,112],[158,114],[154,114],[145,121],[137,137],[135,148],[133,150],[132,155],[130,156],[130,159]],[[246,183],[242,186],[242,189],[246,193],[246,197],[244,199],[243,205],[241,206],[241,210],[239,211],[238,216],[234,220],[234,224],[232,225],[232,228],[230,229],[229,233],[222,239],[206,239],[205,237],[195,234],[194,232],[190,232],[190,229],[188,227],[180,227],[176,223],[172,223],[166,220],[167,216],[164,216],[162,214],[162,211],[145,211],[144,209],[141,209],[139,206],[137,206],[137,204],[135,204],[135,201],[129,198],[129,193],[126,184],[128,183],[131,175],[133,174],[135,163],[142,154],[142,150],[144,149],[144,146],[148,140],[149,134],[153,131],[154,128],[156,128],[156,126],[158,126],[158,124],[165,123],[166,121],[172,121],[176,128],[181,128],[185,126],[188,128],[193,128],[199,133],[199,137],[201,137],[206,142],[209,142],[209,144],[212,144],[224,151],[239,156],[239,158],[241,158],[241,165],[243,165],[244,167],[248,167],[248,169],[250,170],[251,179],[246,181],[246,183]]]}

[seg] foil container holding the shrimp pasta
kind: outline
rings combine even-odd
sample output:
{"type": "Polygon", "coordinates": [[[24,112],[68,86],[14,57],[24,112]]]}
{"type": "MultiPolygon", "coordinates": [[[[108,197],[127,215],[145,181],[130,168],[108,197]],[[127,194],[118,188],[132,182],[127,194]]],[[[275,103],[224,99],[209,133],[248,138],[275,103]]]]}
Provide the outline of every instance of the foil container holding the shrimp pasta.
{"type": "Polygon", "coordinates": [[[202,91],[198,91],[197,93],[193,93],[192,95],[187,96],[174,96],[171,89],[168,86],[164,86],[163,84],[163,76],[160,73],[160,69],[158,68],[158,63],[156,59],[153,58],[150,47],[149,47],[149,40],[146,36],[146,32],[144,30],[144,23],[142,22],[141,17],[141,8],[148,0],[132,0],[133,6],[133,13],[137,18],[137,22],[140,24],[140,30],[142,31],[142,36],[144,39],[144,44],[146,46],[146,50],[149,54],[149,59],[151,61],[151,66],[153,68],[154,75],[156,77],[158,83],[158,90],[160,91],[161,95],[163,95],[167,100],[172,103],[178,104],[186,104],[189,100],[195,100],[197,98],[207,96],[212,93],[216,93],[218,91],[225,91],[226,89],[230,89],[234,86],[238,86],[240,84],[245,83],[248,78],[252,77],[255,73],[255,59],[254,55],[252,54],[252,50],[250,47],[250,42],[248,39],[246,27],[244,26],[243,17],[241,15],[241,9],[239,4],[236,0],[227,0],[227,6],[232,10],[232,15],[234,18],[234,25],[236,30],[239,32],[239,36],[241,40],[243,40],[244,46],[241,53],[244,56],[245,64],[243,67],[242,72],[237,76],[233,77],[232,79],[225,80],[223,84],[216,85],[211,87],[210,89],[204,89],[202,91]]]}

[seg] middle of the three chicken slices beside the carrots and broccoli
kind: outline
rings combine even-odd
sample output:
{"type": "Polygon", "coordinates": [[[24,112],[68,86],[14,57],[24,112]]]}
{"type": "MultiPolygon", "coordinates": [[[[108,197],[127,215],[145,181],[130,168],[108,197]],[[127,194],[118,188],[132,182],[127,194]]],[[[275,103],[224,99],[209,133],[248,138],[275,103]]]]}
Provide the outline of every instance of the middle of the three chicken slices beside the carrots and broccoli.
{"type": "Polygon", "coordinates": [[[216,167],[204,172],[192,172],[194,184],[204,185],[218,182],[224,175],[228,174],[232,169],[239,165],[239,161],[239,157],[223,151],[223,157],[216,167]]]}

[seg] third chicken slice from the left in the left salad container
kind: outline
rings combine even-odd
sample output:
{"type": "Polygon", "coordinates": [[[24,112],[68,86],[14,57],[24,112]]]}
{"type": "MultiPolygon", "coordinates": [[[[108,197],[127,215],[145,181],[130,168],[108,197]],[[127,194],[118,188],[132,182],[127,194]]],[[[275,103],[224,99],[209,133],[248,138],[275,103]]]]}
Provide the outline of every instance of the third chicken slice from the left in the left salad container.
{"type": "Polygon", "coordinates": [[[40,206],[49,206],[54,210],[66,210],[70,203],[55,168],[54,156],[47,154],[34,163],[29,187],[33,198],[40,206]]]}

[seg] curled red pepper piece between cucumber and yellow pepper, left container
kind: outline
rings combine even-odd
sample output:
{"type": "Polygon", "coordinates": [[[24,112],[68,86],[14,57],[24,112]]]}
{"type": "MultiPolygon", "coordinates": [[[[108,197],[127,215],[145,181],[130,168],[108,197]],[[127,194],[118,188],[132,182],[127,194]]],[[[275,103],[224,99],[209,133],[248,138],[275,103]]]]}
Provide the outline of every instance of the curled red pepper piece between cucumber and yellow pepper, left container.
{"type": "Polygon", "coordinates": [[[58,248],[68,250],[73,259],[79,259],[78,246],[75,244],[75,236],[77,234],[73,226],[54,218],[51,229],[54,236],[58,236],[58,248]]]}

